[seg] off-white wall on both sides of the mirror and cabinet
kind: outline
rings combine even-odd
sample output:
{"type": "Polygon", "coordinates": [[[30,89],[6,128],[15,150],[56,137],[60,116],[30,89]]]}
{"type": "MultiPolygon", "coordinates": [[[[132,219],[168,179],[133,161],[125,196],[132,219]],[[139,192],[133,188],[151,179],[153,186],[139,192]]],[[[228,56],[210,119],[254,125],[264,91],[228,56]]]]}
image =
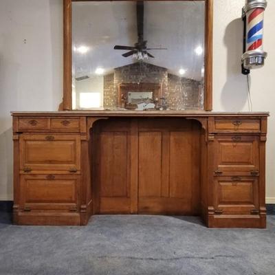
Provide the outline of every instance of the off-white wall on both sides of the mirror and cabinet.
{"type": "MultiPolygon", "coordinates": [[[[248,111],[240,73],[244,0],[214,0],[214,111],[248,111]]],[[[62,98],[62,0],[0,1],[0,200],[12,199],[10,111],[57,110],[62,98]],[[24,42],[24,39],[26,41],[24,42]]],[[[263,69],[251,74],[253,111],[270,111],[267,201],[275,203],[275,1],[265,12],[263,69]],[[273,75],[272,75],[273,74],[273,75]]]]}

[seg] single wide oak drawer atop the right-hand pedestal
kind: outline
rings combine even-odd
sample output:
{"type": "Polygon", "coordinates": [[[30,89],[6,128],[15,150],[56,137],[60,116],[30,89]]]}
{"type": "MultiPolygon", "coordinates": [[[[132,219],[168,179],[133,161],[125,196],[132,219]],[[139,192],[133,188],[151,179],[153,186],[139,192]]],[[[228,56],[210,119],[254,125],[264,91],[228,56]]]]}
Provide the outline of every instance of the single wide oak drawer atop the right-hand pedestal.
{"type": "Polygon", "coordinates": [[[246,118],[215,118],[214,119],[214,133],[260,133],[261,121],[259,119],[246,118]]]}

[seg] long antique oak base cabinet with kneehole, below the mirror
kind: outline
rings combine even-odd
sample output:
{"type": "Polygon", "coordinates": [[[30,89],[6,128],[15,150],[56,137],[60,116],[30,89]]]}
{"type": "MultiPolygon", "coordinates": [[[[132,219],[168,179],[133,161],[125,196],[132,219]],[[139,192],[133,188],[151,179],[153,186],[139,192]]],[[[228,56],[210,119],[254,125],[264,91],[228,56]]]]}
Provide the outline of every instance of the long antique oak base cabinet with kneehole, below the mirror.
{"type": "Polygon", "coordinates": [[[13,112],[14,223],[192,214],[265,228],[268,113],[13,112]]]}

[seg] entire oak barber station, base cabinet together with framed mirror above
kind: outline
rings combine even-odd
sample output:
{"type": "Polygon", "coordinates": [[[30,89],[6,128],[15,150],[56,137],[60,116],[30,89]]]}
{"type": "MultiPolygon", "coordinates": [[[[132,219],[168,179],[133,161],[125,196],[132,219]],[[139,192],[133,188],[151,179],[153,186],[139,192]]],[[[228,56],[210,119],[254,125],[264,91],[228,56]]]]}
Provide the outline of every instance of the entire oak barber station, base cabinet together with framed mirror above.
{"type": "Polygon", "coordinates": [[[170,214],[199,215],[210,228],[265,228],[269,114],[212,112],[212,10],[212,0],[64,0],[60,111],[12,112],[14,223],[85,225],[93,214],[170,214]],[[168,8],[172,17],[162,13],[168,8]],[[122,32],[129,26],[130,36],[122,32]],[[134,62],[134,54],[150,58],[134,62]],[[108,74],[95,76],[103,61],[108,74]],[[183,77],[178,69],[188,61],[183,77]],[[83,88],[98,79],[101,86],[83,88]],[[78,111],[76,94],[98,89],[102,111],[78,111]],[[130,92],[143,101],[133,104],[130,92]],[[147,101],[150,108],[136,111],[147,101]]]}

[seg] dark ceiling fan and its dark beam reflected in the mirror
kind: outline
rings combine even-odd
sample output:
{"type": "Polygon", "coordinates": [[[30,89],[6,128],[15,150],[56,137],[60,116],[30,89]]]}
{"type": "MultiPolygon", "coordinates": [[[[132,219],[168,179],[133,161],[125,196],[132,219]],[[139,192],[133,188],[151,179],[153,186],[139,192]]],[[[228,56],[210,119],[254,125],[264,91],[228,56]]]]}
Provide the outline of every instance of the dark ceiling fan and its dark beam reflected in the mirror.
{"type": "Polygon", "coordinates": [[[133,56],[138,60],[143,60],[144,58],[154,58],[152,54],[147,52],[148,50],[167,50],[160,47],[151,47],[147,48],[147,41],[144,41],[144,1],[137,1],[137,43],[134,46],[122,46],[115,45],[114,50],[129,50],[125,54],[122,54],[124,57],[133,56]]]}

